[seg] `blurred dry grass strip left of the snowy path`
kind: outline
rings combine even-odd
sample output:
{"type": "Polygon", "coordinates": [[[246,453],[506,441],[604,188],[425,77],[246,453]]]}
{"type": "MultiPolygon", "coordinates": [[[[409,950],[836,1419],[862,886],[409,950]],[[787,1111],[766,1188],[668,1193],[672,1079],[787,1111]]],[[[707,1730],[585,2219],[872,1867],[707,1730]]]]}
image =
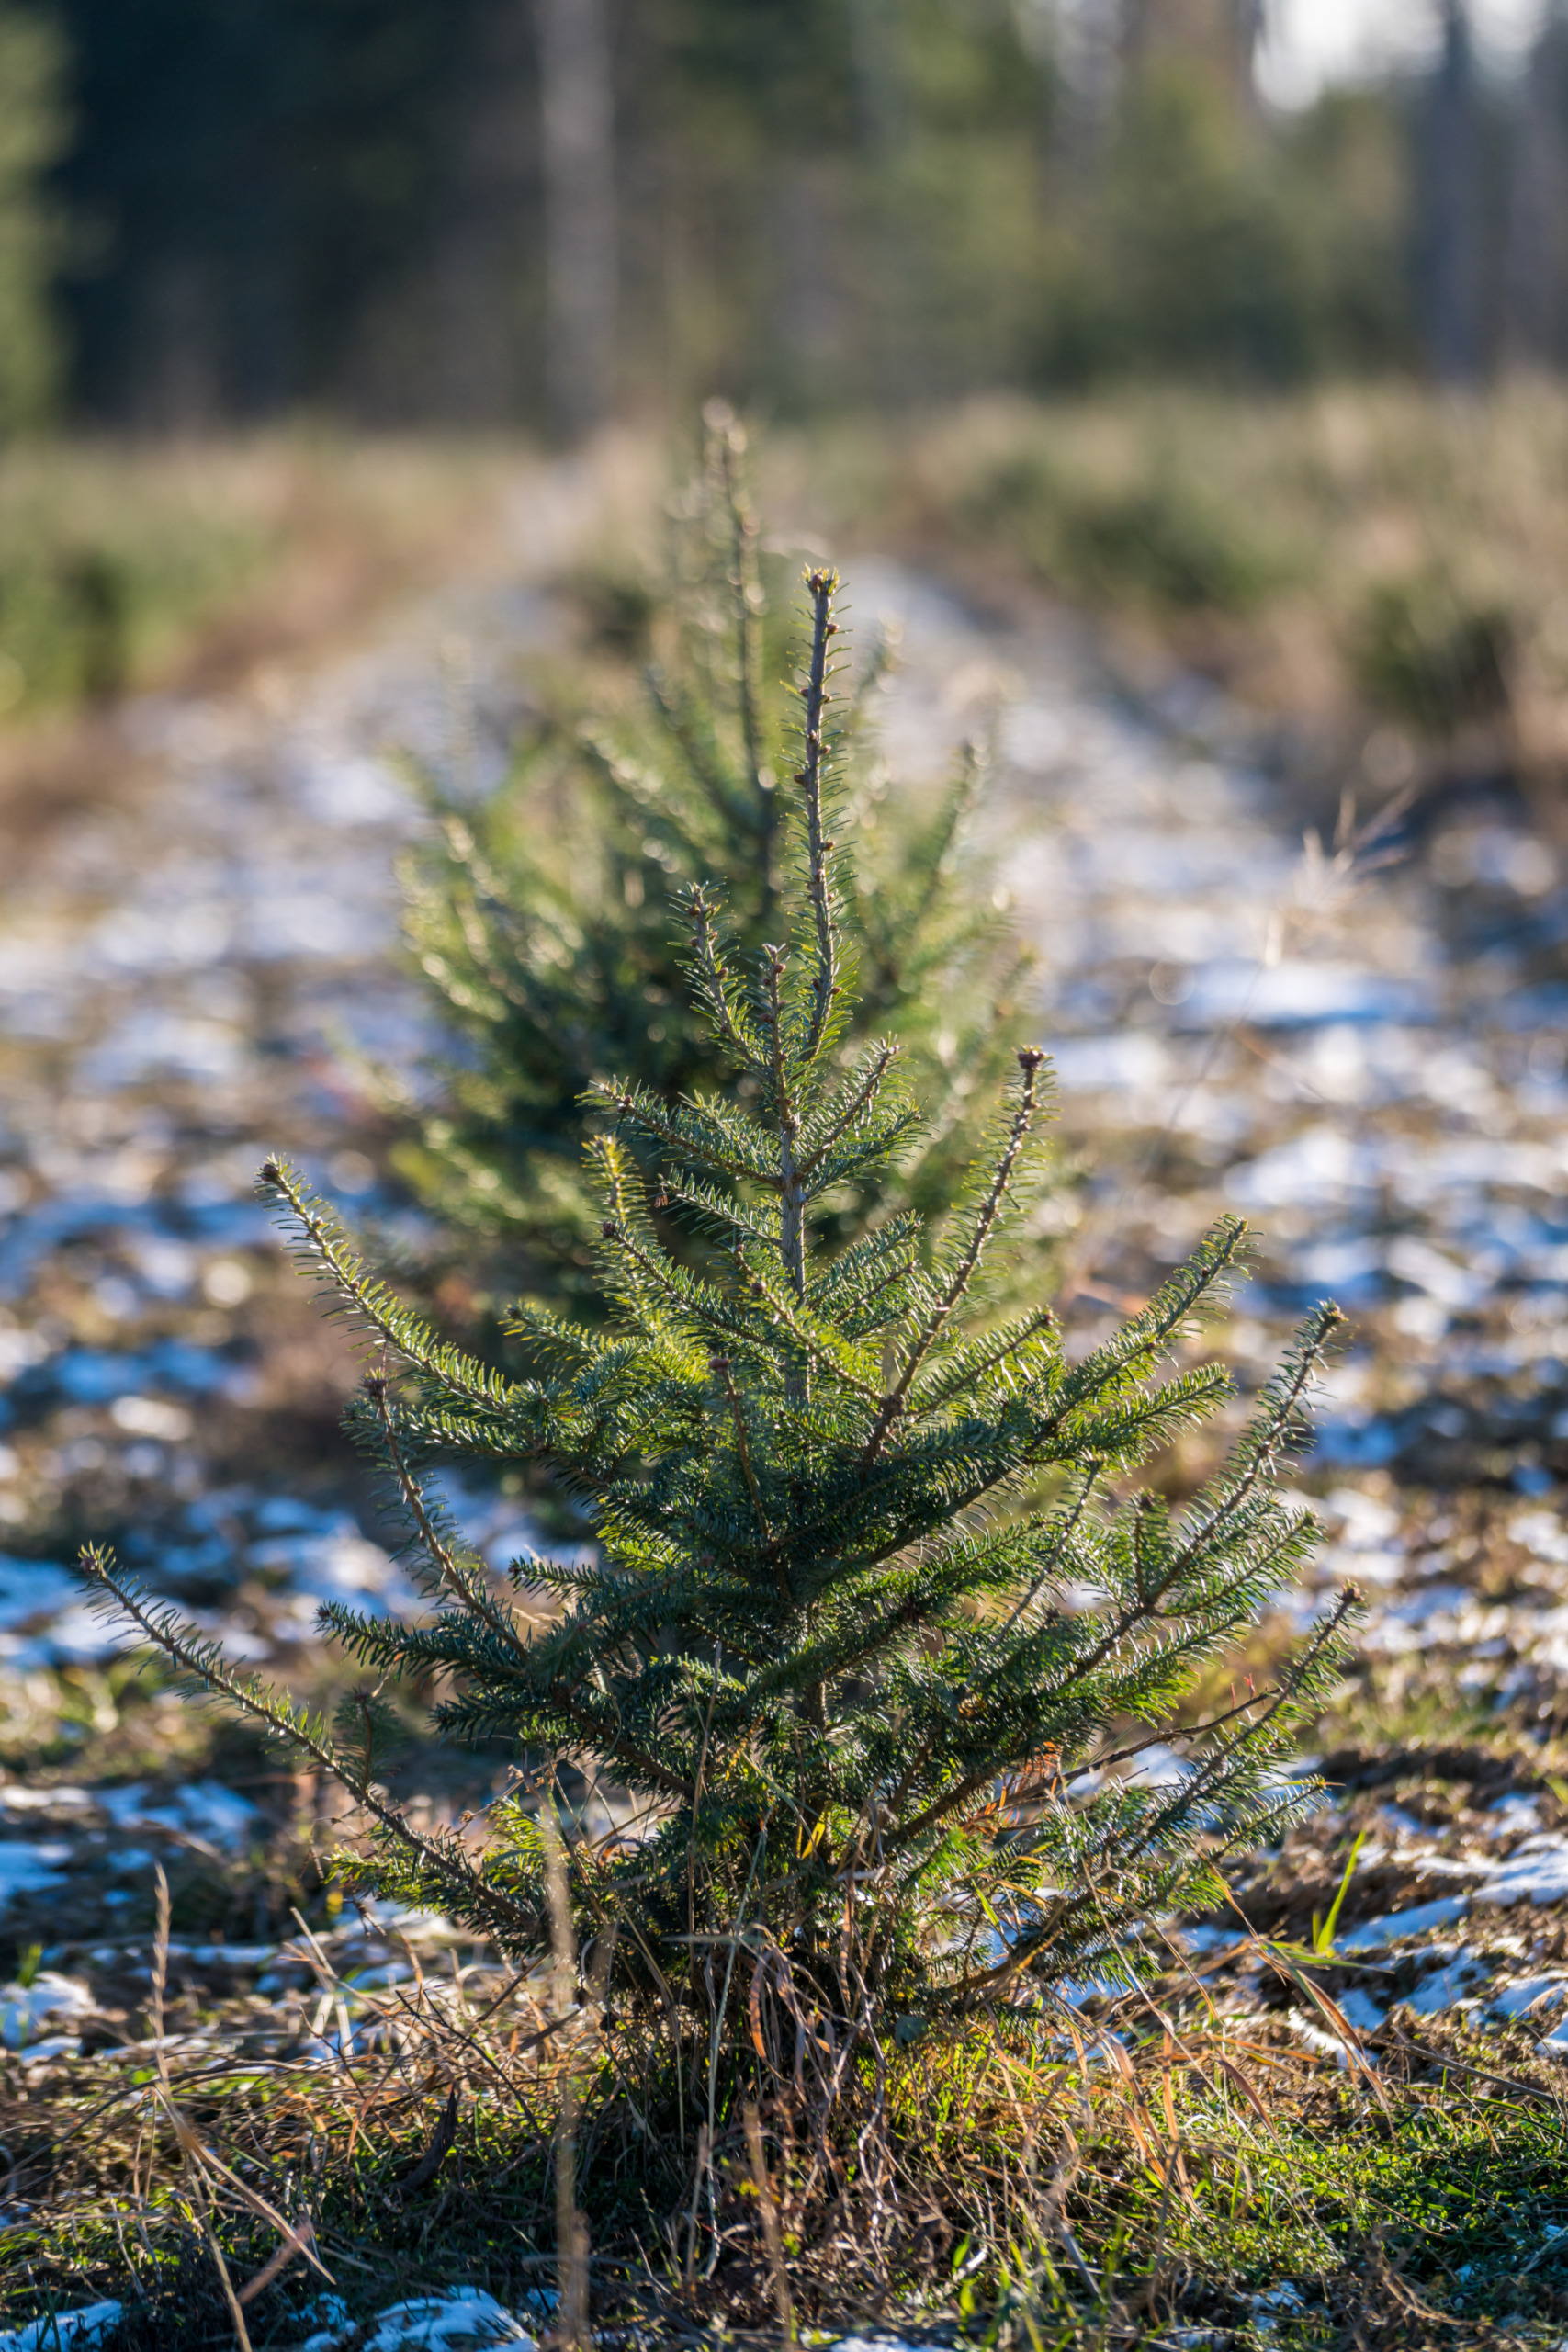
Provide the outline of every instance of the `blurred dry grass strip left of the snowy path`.
{"type": "Polygon", "coordinates": [[[416,588],[503,560],[505,445],[268,435],[0,456],[0,823],[134,788],[125,694],[216,694],[320,659],[416,588]]]}

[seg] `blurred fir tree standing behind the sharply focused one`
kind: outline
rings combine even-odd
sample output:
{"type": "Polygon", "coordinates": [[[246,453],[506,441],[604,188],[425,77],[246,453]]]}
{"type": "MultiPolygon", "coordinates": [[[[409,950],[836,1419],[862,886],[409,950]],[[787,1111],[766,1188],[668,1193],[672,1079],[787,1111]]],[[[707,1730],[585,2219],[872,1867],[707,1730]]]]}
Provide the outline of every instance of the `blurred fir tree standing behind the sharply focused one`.
{"type": "MultiPolygon", "coordinates": [[[[703,466],[675,513],[656,597],[663,659],[639,706],[548,724],[477,809],[425,779],[440,844],[404,873],[407,924],[463,1058],[442,1068],[440,1108],[400,1167],[447,1228],[498,1247],[515,1284],[576,1312],[592,1312],[599,1291],[585,1091],[630,1070],[675,1103],[724,1075],[724,1042],[684,983],[684,894],[717,887],[745,953],[778,917],[778,779],[792,724],[788,682],[769,684],[788,656],[780,569],[764,560],[743,428],[715,402],[703,466]]],[[[889,659],[879,642],[844,694],[844,743],[889,659]]],[[[832,1040],[853,1049],[891,1030],[926,1110],[875,1185],[837,1204],[837,1240],[872,1211],[950,1207],[966,1105],[1006,1065],[1027,960],[964,847],[980,781],[973,743],[936,807],[912,816],[863,760],[835,811],[839,840],[853,835],[860,856],[844,868],[837,917],[856,993],[832,1040]]],[[[691,1251],[677,1223],[658,1230],[665,1247],[691,1251]]]]}

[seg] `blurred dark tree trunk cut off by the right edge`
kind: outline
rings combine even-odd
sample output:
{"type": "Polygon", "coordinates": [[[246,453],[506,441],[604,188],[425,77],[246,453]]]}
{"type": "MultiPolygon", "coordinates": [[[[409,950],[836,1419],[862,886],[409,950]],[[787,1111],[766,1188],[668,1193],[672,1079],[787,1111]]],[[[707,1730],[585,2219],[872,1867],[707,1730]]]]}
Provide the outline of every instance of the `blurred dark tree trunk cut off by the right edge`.
{"type": "Polygon", "coordinates": [[[1552,0],[1530,49],[1505,252],[1505,341],[1512,360],[1568,362],[1568,0],[1552,0]]]}

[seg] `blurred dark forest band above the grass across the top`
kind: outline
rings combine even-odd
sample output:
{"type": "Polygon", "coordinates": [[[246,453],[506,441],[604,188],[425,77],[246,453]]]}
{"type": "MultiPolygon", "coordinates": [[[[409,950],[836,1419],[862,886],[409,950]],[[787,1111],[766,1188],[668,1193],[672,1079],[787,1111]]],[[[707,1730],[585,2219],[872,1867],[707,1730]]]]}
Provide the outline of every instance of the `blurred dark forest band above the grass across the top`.
{"type": "Polygon", "coordinates": [[[1568,360],[1568,12],[1274,111],[1267,0],[5,0],[0,419],[550,428],[1568,360]]]}

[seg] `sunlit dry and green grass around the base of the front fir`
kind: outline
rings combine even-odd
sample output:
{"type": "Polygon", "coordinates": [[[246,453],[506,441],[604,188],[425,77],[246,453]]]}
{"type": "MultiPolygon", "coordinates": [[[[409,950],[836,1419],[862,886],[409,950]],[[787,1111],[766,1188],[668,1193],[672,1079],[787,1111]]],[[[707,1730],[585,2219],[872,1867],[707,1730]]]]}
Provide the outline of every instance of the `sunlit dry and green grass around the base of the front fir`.
{"type": "Polygon", "coordinates": [[[193,2049],[165,1947],[165,2039],[9,2060],[9,2312],[113,2293],[139,2352],[287,2343],[322,2272],[357,2314],[456,2281],[541,2310],[574,2140],[590,2324],[628,2347],[851,2321],[999,2352],[1561,2340],[1561,2067],[1526,2030],[1361,2044],[1333,1971],[1288,1947],[1241,1952],[1248,2013],[1173,1957],[1077,2018],[889,2049],[827,2133],[809,2067],[684,2147],[646,2138],[651,2023],[494,1962],[374,1990],[329,1936],[294,1955],[289,2046],[230,2020],[221,2053],[193,2049]]]}

